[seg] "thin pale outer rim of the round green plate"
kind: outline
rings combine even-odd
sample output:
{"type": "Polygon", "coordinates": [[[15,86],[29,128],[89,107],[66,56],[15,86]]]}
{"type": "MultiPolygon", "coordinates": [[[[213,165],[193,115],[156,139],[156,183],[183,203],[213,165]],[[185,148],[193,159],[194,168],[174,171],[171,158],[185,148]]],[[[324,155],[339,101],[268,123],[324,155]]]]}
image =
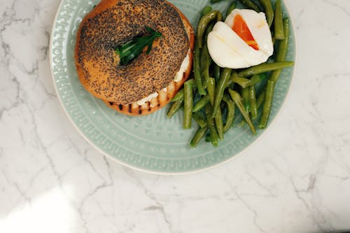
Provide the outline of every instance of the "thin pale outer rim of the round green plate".
{"type": "Polygon", "coordinates": [[[154,174],[154,175],[162,175],[162,176],[180,176],[180,175],[186,175],[186,174],[196,174],[196,173],[200,173],[200,172],[205,172],[207,170],[211,170],[211,169],[214,169],[216,167],[220,167],[222,165],[225,165],[226,163],[230,163],[232,160],[236,159],[236,158],[239,158],[241,157],[241,155],[243,155],[244,153],[246,153],[246,151],[248,151],[249,149],[253,148],[253,146],[259,142],[261,140],[261,138],[267,134],[267,132],[274,126],[274,123],[276,122],[276,119],[279,118],[280,114],[281,114],[281,111],[282,110],[285,110],[285,105],[286,105],[286,100],[288,99],[288,97],[290,96],[290,92],[291,92],[291,89],[293,87],[293,84],[294,84],[294,75],[295,75],[295,70],[297,68],[297,37],[296,37],[296,31],[295,31],[295,25],[294,25],[294,21],[293,21],[293,17],[291,17],[291,14],[290,14],[290,8],[289,8],[289,4],[288,4],[288,1],[287,0],[283,0],[283,3],[285,4],[285,7],[286,7],[286,12],[288,13],[289,15],[289,20],[290,20],[290,25],[293,29],[293,38],[294,38],[294,66],[293,66],[293,73],[291,75],[291,82],[290,82],[290,86],[288,88],[288,92],[286,93],[286,98],[283,99],[282,103],[281,103],[281,107],[279,108],[278,112],[276,113],[276,117],[274,117],[274,119],[272,119],[272,121],[270,121],[269,123],[269,126],[267,126],[267,128],[262,132],[261,135],[258,136],[258,138],[256,140],[254,140],[251,144],[249,144],[248,146],[246,146],[245,149],[243,149],[242,151],[240,151],[239,153],[237,153],[235,156],[232,156],[231,158],[228,158],[226,160],[223,160],[221,163],[217,163],[215,165],[211,165],[209,167],[204,167],[204,168],[201,168],[201,169],[198,169],[198,170],[192,170],[192,171],[187,171],[187,172],[155,172],[153,170],[144,170],[140,167],[134,167],[132,165],[129,165],[127,163],[124,163],[120,160],[118,160],[117,158],[114,158],[113,156],[111,156],[109,153],[106,153],[104,151],[102,151],[102,149],[99,149],[98,146],[96,146],[94,143],[92,143],[84,134],[83,132],[78,128],[78,126],[76,126],[76,123],[73,122],[73,120],[71,119],[71,116],[69,115],[69,113],[66,111],[66,108],[64,107],[64,104],[62,103],[62,99],[59,98],[59,93],[58,93],[58,89],[57,89],[57,86],[56,86],[56,82],[55,82],[55,76],[53,74],[53,67],[52,67],[52,42],[53,42],[53,31],[56,27],[56,22],[57,22],[57,17],[59,15],[59,11],[61,10],[62,8],[62,4],[63,4],[63,1],[64,0],[61,0],[60,3],[59,3],[59,6],[57,8],[57,11],[55,13],[55,17],[54,17],[54,20],[53,20],[53,23],[52,23],[52,27],[51,27],[51,32],[50,32],[50,45],[49,45],[49,61],[50,61],[50,73],[51,73],[51,78],[52,78],[52,82],[53,82],[53,85],[55,87],[55,92],[56,92],[56,95],[57,95],[57,98],[59,100],[59,103],[62,107],[62,109],[64,110],[64,113],[66,114],[66,117],[69,119],[69,121],[71,121],[71,124],[74,126],[74,128],[76,128],[76,130],[78,131],[78,133],[94,148],[96,149],[97,151],[99,151],[99,153],[102,153],[103,156],[106,156],[106,158],[109,158],[110,160],[113,160],[115,161],[116,163],[120,164],[120,165],[123,165],[124,167],[127,167],[127,168],[130,168],[132,170],[136,170],[138,172],[145,172],[145,173],[148,173],[148,174],[154,174]]]}

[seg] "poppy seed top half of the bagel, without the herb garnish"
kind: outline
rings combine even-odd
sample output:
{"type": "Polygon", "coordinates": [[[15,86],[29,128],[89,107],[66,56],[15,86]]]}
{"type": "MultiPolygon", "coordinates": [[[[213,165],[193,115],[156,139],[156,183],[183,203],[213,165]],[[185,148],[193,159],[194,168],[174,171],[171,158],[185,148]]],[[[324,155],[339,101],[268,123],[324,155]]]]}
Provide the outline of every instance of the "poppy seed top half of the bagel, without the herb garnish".
{"type": "Polygon", "coordinates": [[[134,103],[174,80],[190,48],[181,16],[161,0],[102,0],[78,29],[75,60],[78,78],[93,96],[118,104],[134,103]],[[119,64],[116,47],[146,27],[162,33],[149,54],[126,66],[119,64]]]}

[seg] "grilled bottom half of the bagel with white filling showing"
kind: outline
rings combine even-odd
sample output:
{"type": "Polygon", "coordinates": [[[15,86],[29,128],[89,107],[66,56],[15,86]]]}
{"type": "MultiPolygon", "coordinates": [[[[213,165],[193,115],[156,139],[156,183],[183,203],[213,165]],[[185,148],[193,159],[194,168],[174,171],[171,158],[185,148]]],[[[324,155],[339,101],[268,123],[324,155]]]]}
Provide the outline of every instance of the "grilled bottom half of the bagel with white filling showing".
{"type": "Polygon", "coordinates": [[[157,110],[160,110],[160,108],[165,107],[165,105],[167,105],[170,102],[170,100],[174,98],[176,93],[181,89],[181,87],[183,86],[183,83],[186,82],[186,80],[188,80],[188,77],[192,72],[192,66],[193,66],[193,48],[195,45],[195,32],[193,31],[193,27],[191,26],[186,16],[183,15],[183,13],[181,13],[181,11],[177,9],[175,6],[173,7],[179,12],[181,20],[183,22],[183,26],[186,29],[189,42],[190,42],[190,47],[188,49],[189,63],[188,63],[188,67],[186,68],[186,71],[183,73],[182,79],[179,82],[175,82],[174,80],[172,80],[172,82],[170,82],[165,89],[161,89],[160,91],[157,91],[158,96],[151,98],[151,100],[147,101],[143,105],[139,105],[138,103],[120,105],[118,103],[113,103],[113,102],[104,100],[104,103],[106,103],[106,105],[111,107],[113,110],[116,110],[120,113],[127,114],[130,116],[141,116],[141,115],[151,114],[157,110]]]}

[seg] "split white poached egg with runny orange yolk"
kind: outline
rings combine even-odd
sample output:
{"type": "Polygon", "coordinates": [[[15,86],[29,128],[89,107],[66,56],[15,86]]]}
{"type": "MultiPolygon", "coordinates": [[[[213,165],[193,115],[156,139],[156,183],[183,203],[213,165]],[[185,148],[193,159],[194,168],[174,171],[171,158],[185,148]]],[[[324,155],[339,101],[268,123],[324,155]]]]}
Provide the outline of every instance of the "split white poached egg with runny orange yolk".
{"type": "Polygon", "coordinates": [[[265,13],[232,10],[208,35],[211,58],[222,68],[247,68],[264,63],[273,54],[271,31],[265,13]]]}

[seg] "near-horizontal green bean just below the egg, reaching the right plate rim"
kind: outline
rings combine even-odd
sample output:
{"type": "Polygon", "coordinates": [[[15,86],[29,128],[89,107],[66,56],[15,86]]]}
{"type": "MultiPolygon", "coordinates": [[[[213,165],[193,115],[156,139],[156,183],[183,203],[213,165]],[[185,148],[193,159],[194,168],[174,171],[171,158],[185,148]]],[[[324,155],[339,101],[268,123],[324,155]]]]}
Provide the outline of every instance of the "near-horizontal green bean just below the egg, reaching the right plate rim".
{"type": "Polygon", "coordinates": [[[239,77],[249,77],[251,75],[258,75],[260,73],[265,73],[272,70],[280,70],[281,68],[286,68],[294,66],[294,61],[280,61],[274,63],[262,63],[258,66],[252,66],[250,68],[246,68],[245,70],[241,70],[238,73],[239,77]]]}

